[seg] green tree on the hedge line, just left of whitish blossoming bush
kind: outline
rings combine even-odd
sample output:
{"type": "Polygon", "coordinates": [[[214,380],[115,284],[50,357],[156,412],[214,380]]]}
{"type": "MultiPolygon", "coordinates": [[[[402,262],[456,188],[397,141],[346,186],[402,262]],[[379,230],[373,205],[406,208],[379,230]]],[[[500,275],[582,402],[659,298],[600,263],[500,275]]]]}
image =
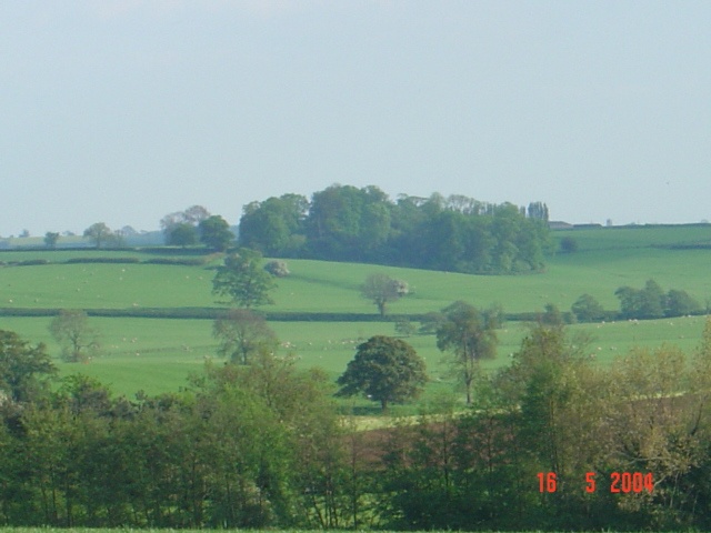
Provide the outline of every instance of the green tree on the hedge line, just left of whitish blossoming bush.
{"type": "Polygon", "coordinates": [[[261,268],[261,253],[247,248],[228,255],[214,274],[212,293],[229,296],[232,303],[247,309],[274,303],[269,293],[277,285],[261,268]]]}

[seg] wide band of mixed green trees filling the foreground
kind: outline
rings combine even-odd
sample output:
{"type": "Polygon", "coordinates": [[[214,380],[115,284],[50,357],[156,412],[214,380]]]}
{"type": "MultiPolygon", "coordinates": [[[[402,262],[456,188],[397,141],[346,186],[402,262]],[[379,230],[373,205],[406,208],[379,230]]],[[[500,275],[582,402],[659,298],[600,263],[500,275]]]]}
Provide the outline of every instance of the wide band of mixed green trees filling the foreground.
{"type": "Polygon", "coordinates": [[[378,431],[343,424],[321,372],[268,351],[134,400],[80,374],[50,390],[44,346],[11,332],[0,362],[4,524],[711,526],[711,322],[691,358],[640,349],[609,368],[539,324],[470,409],[443,400],[378,431]]]}

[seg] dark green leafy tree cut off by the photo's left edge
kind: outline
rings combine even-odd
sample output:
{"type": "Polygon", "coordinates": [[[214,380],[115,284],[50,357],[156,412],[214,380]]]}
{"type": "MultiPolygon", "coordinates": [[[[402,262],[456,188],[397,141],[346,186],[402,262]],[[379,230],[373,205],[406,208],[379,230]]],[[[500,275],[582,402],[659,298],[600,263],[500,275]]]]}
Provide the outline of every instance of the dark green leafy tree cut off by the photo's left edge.
{"type": "Polygon", "coordinates": [[[44,344],[32,346],[13,331],[0,330],[0,396],[28,401],[42,386],[42,378],[56,373],[44,344]]]}

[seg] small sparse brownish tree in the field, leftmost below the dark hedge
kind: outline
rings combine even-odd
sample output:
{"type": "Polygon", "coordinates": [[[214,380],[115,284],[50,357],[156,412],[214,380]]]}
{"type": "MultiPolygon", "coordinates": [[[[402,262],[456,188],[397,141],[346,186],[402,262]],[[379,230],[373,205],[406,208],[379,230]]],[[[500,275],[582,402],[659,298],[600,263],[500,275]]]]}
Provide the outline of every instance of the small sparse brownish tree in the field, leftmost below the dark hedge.
{"type": "Polygon", "coordinates": [[[89,325],[84,311],[61,310],[50,323],[49,330],[61,345],[66,361],[86,363],[99,353],[99,333],[89,325]]]}

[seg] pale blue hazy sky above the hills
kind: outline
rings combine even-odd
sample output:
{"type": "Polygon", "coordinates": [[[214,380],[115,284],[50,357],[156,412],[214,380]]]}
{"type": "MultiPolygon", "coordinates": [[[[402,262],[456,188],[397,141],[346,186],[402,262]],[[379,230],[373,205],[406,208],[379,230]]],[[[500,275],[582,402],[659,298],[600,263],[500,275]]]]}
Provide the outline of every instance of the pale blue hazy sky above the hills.
{"type": "Polygon", "coordinates": [[[711,2],[0,2],[0,235],[333,184],[711,220],[711,2]]]}

